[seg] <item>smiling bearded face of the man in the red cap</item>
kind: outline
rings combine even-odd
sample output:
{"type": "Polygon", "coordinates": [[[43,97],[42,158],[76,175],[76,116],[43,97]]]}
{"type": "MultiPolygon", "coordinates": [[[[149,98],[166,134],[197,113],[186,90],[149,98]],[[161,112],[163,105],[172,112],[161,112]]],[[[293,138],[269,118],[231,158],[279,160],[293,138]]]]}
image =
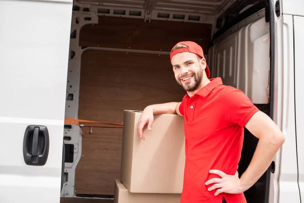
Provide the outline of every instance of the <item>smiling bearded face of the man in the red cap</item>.
{"type": "Polygon", "coordinates": [[[192,92],[198,89],[203,79],[204,67],[196,54],[178,53],[172,57],[171,63],[175,79],[184,90],[192,92]]]}

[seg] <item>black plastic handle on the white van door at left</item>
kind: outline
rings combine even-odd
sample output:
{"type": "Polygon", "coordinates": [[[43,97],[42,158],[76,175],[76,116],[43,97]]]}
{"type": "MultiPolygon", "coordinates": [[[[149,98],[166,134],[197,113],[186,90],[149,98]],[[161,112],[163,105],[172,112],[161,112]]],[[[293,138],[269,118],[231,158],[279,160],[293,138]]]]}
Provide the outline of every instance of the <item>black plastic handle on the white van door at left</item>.
{"type": "Polygon", "coordinates": [[[49,154],[49,132],[46,126],[29,125],[23,139],[23,158],[27,165],[41,166],[49,154]]]}

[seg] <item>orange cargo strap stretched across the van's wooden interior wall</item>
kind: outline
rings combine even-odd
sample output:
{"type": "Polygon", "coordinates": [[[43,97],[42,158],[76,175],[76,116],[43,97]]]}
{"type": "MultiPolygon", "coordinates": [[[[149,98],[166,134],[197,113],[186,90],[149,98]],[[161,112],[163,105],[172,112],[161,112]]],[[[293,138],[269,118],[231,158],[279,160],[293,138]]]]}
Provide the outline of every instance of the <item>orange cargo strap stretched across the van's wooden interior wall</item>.
{"type": "MultiPolygon", "coordinates": [[[[92,127],[122,128],[124,125],[123,123],[101,122],[101,121],[83,120],[76,118],[65,118],[64,122],[71,125],[79,125],[80,127],[90,127],[90,133],[92,133],[92,127]],[[88,123],[88,124],[83,124],[83,123],[88,123]],[[99,124],[114,125],[114,126],[105,126],[99,124]]],[[[82,134],[84,134],[83,131],[82,134]]]]}

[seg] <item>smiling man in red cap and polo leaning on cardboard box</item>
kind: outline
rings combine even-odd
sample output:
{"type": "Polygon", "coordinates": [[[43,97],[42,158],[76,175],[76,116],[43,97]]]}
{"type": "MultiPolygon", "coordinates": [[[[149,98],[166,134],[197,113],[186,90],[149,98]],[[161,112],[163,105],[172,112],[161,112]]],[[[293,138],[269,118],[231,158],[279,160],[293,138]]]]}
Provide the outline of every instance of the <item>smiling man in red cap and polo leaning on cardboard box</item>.
{"type": "Polygon", "coordinates": [[[175,79],[187,94],[181,103],[146,107],[138,123],[151,126],[156,114],[184,116],[185,168],[181,203],[245,203],[244,191],[267,170],[285,138],[269,116],[240,90],[225,86],[210,71],[202,48],[180,42],[170,55],[175,79]],[[251,163],[241,178],[244,127],[259,139],[251,163]]]}

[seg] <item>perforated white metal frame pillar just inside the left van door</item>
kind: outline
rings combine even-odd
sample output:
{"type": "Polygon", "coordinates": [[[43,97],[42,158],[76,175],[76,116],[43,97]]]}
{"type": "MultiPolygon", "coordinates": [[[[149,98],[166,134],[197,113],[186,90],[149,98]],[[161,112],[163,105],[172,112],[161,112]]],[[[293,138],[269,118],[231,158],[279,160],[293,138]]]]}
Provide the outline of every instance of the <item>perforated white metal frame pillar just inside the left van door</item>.
{"type": "MultiPolygon", "coordinates": [[[[69,55],[66,92],[67,95],[73,95],[73,100],[66,100],[65,102],[66,118],[78,118],[81,55],[85,50],[79,46],[80,30],[86,24],[95,23],[98,23],[98,16],[94,13],[72,12],[71,32],[75,30],[76,38],[70,39],[69,53],[73,51],[75,55],[73,57],[69,55]],[[85,18],[91,19],[86,20],[85,18]]],[[[70,140],[65,140],[64,143],[74,145],[74,153],[73,162],[64,163],[64,173],[67,177],[63,184],[61,196],[73,197],[75,195],[75,170],[82,156],[81,128],[78,125],[71,125],[71,129],[64,129],[64,136],[70,137],[70,140]]]]}

